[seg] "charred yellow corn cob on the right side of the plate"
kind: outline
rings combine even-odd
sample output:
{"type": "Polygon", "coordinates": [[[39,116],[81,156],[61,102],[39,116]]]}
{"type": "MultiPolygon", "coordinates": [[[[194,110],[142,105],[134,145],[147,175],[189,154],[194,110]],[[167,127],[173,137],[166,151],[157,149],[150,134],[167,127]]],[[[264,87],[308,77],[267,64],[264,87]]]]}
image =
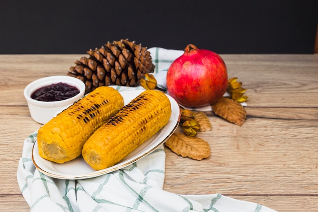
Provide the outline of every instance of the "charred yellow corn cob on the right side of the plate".
{"type": "Polygon", "coordinates": [[[85,142],[84,160],[95,170],[115,165],[169,121],[171,105],[158,90],[145,90],[85,142]]]}

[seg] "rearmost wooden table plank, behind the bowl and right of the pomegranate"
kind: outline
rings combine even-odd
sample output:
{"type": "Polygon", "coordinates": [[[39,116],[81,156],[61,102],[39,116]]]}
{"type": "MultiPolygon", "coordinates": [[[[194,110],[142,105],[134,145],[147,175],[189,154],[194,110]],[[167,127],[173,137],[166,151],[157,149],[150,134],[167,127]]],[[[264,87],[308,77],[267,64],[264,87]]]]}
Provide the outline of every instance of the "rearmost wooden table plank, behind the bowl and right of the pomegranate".
{"type": "MultiPolygon", "coordinates": [[[[17,63],[15,55],[3,55],[0,87],[6,89],[0,89],[0,105],[26,105],[23,89],[29,82],[44,76],[66,75],[80,56],[22,55],[17,63]],[[39,74],[30,76],[30,72],[39,74]]],[[[247,88],[249,106],[317,107],[318,54],[222,56],[228,61],[229,77],[238,77],[247,88]]]]}

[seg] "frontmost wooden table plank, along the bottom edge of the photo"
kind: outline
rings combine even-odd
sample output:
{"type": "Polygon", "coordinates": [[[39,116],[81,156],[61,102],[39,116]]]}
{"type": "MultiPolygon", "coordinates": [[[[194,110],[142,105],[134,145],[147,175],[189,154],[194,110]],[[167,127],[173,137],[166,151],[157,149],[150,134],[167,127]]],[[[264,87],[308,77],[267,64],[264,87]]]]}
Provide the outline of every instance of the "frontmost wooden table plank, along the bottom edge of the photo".
{"type": "MultiPolygon", "coordinates": [[[[318,196],[229,195],[228,197],[259,203],[279,212],[316,211],[318,202],[318,196]]],[[[0,195],[0,211],[29,212],[30,207],[22,195],[0,195]]]]}

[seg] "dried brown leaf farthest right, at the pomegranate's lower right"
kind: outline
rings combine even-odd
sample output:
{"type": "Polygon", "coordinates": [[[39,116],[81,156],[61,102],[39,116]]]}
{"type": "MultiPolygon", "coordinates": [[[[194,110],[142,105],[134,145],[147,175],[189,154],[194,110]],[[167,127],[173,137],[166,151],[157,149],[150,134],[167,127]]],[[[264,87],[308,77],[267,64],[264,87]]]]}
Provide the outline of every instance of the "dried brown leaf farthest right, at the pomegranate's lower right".
{"type": "Polygon", "coordinates": [[[247,113],[245,108],[239,102],[222,97],[211,106],[216,115],[219,115],[238,126],[243,125],[247,113]]]}

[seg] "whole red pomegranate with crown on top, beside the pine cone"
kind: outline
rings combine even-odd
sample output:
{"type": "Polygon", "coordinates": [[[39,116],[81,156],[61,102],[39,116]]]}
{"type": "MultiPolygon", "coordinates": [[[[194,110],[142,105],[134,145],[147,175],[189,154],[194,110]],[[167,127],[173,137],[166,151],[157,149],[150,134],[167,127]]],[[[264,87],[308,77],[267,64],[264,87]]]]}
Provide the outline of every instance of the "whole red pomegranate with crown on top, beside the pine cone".
{"type": "Polygon", "coordinates": [[[224,60],[215,52],[189,44],[167,73],[167,89],[179,104],[200,107],[219,100],[227,91],[224,60]]]}

